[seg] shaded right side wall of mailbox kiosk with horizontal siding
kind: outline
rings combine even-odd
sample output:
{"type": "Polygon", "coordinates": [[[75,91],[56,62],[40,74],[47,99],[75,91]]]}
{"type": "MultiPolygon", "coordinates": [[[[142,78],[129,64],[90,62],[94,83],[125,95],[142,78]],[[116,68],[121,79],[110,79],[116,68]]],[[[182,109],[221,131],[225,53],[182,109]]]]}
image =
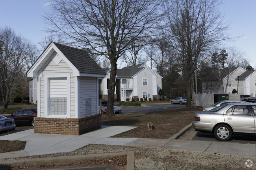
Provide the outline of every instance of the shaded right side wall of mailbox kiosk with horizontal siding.
{"type": "Polygon", "coordinates": [[[97,78],[96,77],[80,77],[80,91],[78,91],[80,95],[79,105],[80,105],[80,117],[85,117],[90,115],[90,113],[86,113],[85,115],[85,107],[86,101],[91,100],[91,115],[97,114],[97,78]]]}

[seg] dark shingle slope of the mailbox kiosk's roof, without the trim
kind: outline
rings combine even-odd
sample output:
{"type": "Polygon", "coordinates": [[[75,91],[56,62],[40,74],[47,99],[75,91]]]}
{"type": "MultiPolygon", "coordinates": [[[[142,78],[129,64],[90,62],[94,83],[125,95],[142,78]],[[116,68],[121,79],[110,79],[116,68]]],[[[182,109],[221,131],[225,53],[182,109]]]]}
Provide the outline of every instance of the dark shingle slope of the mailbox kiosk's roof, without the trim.
{"type": "Polygon", "coordinates": [[[73,48],[53,42],[80,73],[103,74],[106,72],[82,49],[73,48]]]}

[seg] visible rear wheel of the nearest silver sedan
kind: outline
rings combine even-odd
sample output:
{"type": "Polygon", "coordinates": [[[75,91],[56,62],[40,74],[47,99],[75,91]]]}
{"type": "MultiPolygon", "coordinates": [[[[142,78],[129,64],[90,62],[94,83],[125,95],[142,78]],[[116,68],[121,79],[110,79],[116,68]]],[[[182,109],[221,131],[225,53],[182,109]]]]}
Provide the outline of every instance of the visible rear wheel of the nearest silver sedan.
{"type": "Polygon", "coordinates": [[[228,141],[232,137],[232,129],[226,124],[219,124],[214,129],[214,135],[219,141],[228,141]]]}

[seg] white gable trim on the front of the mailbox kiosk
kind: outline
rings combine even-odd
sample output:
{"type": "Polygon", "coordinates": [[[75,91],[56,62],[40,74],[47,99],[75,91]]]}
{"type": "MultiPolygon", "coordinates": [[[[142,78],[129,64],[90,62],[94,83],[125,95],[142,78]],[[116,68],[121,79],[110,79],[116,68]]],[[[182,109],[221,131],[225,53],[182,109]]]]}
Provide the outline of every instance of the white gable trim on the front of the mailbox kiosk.
{"type": "Polygon", "coordinates": [[[40,74],[39,72],[43,70],[46,63],[49,62],[50,58],[57,55],[55,54],[49,58],[46,58],[48,53],[52,49],[54,49],[54,51],[56,51],[59,57],[61,57],[62,60],[64,60],[67,63],[67,65],[72,69],[73,75],[79,75],[78,69],[67,59],[67,57],[65,57],[65,55],[63,55],[63,53],[61,53],[61,51],[56,47],[56,45],[53,42],[51,42],[49,46],[45,49],[45,51],[43,51],[43,53],[40,55],[40,57],[35,61],[35,64],[33,64],[33,66],[28,70],[27,72],[28,77],[38,77],[38,75],[40,74]],[[44,63],[43,61],[45,60],[45,58],[47,59],[47,61],[45,61],[44,63]],[[40,71],[37,71],[37,70],[40,70],[40,71]]]}

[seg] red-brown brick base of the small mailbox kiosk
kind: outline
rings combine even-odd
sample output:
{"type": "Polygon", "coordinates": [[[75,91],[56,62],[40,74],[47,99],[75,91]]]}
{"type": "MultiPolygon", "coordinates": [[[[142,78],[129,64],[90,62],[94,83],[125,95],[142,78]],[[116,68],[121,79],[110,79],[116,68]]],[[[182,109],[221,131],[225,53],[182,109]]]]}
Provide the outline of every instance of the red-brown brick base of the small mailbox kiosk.
{"type": "Polygon", "coordinates": [[[35,117],[34,133],[82,135],[101,128],[101,114],[79,119],[35,117]]]}

